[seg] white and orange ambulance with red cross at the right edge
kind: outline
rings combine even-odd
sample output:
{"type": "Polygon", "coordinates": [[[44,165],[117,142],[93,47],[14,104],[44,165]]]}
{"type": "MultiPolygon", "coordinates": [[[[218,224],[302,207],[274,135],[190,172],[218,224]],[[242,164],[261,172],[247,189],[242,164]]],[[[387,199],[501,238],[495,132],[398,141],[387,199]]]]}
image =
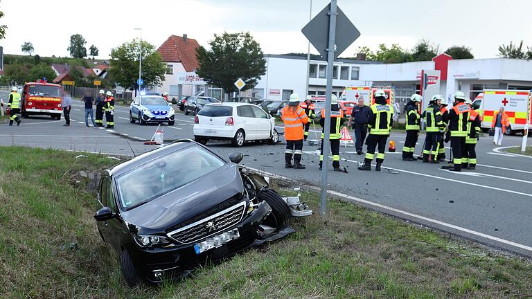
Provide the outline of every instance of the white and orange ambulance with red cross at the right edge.
{"type": "Polygon", "coordinates": [[[532,128],[530,118],[527,121],[527,111],[532,114],[530,103],[531,91],[485,89],[475,98],[473,109],[481,115],[481,128],[488,131],[493,116],[503,107],[510,121],[506,134],[515,135],[517,132],[523,134],[524,129],[532,128]]]}

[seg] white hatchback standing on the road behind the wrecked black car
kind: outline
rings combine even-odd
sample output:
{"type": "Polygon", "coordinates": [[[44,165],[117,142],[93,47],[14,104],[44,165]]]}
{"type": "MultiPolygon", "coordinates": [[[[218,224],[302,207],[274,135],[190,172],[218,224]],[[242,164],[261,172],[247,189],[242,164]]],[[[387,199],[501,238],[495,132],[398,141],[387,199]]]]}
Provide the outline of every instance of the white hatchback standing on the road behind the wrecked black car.
{"type": "Polygon", "coordinates": [[[275,119],[256,105],[224,102],[206,105],[194,119],[195,141],[229,140],[241,147],[246,141],[267,141],[276,144],[279,134],[275,119]]]}

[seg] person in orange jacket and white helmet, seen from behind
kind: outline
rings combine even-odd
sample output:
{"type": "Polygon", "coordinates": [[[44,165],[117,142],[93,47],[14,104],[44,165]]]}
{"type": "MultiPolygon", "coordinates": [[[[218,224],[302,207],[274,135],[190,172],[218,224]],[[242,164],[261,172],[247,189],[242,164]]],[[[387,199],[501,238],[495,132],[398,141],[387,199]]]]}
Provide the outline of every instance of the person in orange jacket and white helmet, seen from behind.
{"type": "Polygon", "coordinates": [[[299,107],[299,95],[292,93],[290,101],[281,111],[281,119],[285,123],[285,167],[294,169],[305,169],[301,164],[303,154],[303,126],[308,124],[308,116],[303,108],[299,107]],[[294,165],[292,165],[294,156],[294,165]]]}

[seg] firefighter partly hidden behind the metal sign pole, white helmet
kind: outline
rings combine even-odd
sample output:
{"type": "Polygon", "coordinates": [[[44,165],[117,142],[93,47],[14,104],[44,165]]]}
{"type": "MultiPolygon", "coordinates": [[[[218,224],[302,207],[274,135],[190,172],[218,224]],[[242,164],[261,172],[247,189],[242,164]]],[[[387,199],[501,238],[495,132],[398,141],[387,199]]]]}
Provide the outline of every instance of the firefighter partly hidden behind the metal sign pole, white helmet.
{"type": "MultiPolygon", "coordinates": [[[[319,119],[319,125],[321,129],[321,152],[319,154],[319,170],[321,170],[321,165],[323,165],[323,139],[325,138],[325,109],[320,111],[321,118],[319,119]]],[[[340,126],[344,122],[344,111],[340,109],[338,105],[338,98],[336,95],[330,96],[330,128],[329,132],[329,141],[330,141],[330,152],[332,152],[332,167],[335,171],[339,172],[340,170],[340,138],[342,134],[340,133],[340,126]]],[[[328,154],[328,153],[326,153],[328,154]]]]}

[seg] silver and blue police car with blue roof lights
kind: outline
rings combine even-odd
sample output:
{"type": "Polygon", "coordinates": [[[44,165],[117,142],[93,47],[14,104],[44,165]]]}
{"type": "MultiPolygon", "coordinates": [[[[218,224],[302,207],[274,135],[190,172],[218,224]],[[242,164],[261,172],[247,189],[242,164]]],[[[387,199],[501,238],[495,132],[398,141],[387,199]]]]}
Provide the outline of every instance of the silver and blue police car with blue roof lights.
{"type": "Polygon", "coordinates": [[[130,105],[130,123],[168,123],[174,125],[175,111],[172,104],[161,96],[136,96],[130,105]]]}

